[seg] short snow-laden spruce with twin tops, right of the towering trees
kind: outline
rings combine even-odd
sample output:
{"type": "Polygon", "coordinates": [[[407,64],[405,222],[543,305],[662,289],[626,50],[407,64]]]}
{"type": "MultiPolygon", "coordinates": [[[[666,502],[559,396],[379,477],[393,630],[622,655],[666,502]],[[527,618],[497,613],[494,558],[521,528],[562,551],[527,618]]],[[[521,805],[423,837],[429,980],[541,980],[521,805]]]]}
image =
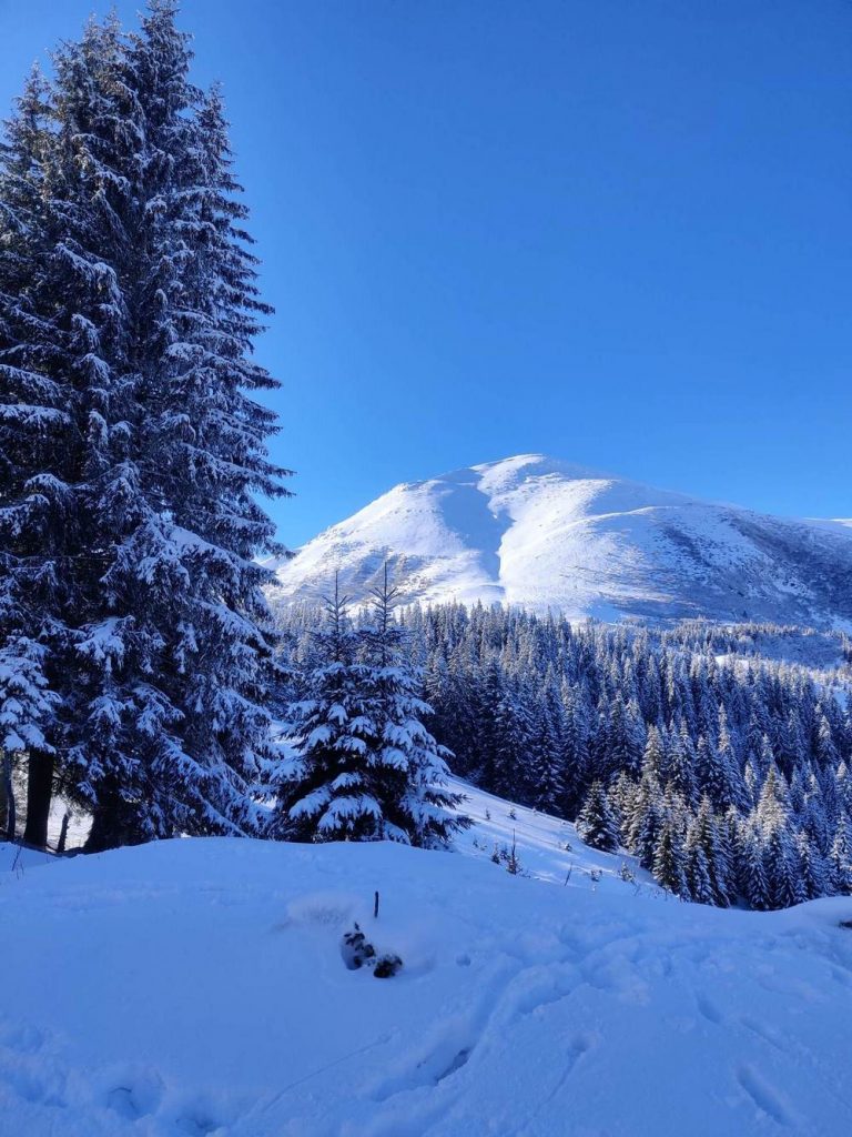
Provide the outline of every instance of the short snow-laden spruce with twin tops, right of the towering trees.
{"type": "Polygon", "coordinates": [[[275,836],[445,845],[465,820],[446,787],[449,752],[423,724],[429,706],[403,653],[385,571],[369,623],[354,630],[335,581],[307,698],[292,707],[293,755],[274,778],[275,836]]]}

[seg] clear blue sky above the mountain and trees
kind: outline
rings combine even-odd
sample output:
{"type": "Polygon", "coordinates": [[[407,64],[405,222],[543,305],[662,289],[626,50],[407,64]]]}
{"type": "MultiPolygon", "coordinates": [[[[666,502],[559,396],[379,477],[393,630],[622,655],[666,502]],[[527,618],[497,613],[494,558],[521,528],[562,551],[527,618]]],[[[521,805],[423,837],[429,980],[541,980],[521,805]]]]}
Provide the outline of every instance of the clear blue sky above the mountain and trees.
{"type": "MultiPolygon", "coordinates": [[[[0,0],[0,106],[107,7],[0,0]]],[[[185,0],[183,24],[277,309],[285,542],[529,450],[852,515],[846,0],[185,0]]]]}

